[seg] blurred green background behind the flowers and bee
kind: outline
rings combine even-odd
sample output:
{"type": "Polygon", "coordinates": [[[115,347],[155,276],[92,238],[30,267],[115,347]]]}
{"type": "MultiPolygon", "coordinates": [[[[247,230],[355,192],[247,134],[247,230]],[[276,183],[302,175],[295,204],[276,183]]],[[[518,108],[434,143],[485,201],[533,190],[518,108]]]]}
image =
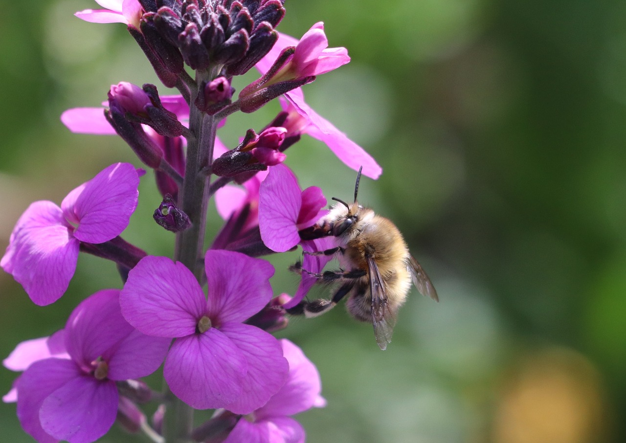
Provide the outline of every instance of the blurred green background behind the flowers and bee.
{"type": "MultiPolygon", "coordinates": [[[[98,106],[112,83],[156,79],[125,26],[72,16],[98,8],[89,0],[1,3],[4,250],[31,201],[59,203],[116,161],[139,165],[117,138],[69,133],[61,112],[98,106]]],[[[321,372],[327,407],[298,417],[308,441],[626,441],[626,4],[286,8],[280,31],[299,37],[324,21],[331,46],[348,48],[352,62],[305,86],[307,101],[382,165],[359,200],[397,223],[441,298],[414,290],[385,352],[342,308],[279,333],[321,372]]],[[[234,146],[276,110],[235,116],[220,136],[234,146]]],[[[287,153],[302,187],[351,197],[354,171],[321,143],[305,137],[287,153]]],[[[170,255],[172,236],[151,220],[159,201],[148,173],[125,238],[170,255]]],[[[210,220],[215,232],[214,208],[210,220]]],[[[270,258],[277,294],[294,292],[298,255],[270,258]]],[[[103,287],[120,287],[113,265],[81,257],[69,292],[41,308],[2,273],[0,357],[62,327],[103,287]]],[[[0,391],[15,375],[0,369],[0,391]]],[[[13,404],[0,404],[0,433],[31,441],[13,404]]]]}

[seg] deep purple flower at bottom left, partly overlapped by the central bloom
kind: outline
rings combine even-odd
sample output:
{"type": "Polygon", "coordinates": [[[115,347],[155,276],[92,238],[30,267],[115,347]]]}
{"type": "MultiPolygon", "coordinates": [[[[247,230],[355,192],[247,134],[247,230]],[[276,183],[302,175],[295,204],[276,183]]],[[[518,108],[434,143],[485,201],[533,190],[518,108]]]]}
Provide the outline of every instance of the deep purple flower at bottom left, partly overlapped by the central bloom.
{"type": "Polygon", "coordinates": [[[38,442],[99,439],[115,422],[116,381],[145,377],[163,362],[170,340],[131,327],[119,294],[101,290],[71,313],[64,328],[71,359],[38,360],[19,377],[18,419],[38,442]]]}

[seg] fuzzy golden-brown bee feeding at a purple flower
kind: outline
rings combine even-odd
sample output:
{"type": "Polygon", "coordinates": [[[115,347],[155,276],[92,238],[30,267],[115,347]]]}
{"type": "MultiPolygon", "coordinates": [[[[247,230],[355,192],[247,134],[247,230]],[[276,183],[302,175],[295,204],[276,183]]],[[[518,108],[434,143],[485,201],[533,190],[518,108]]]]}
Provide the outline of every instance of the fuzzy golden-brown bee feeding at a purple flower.
{"type": "Polygon", "coordinates": [[[318,282],[338,282],[341,286],[331,300],[303,300],[287,309],[287,312],[317,317],[347,295],[348,312],[357,320],[372,323],[376,342],[384,350],[391,342],[398,308],[406,300],[411,283],[422,295],[436,302],[439,298],[428,275],[409,252],[396,225],[357,202],[361,169],[354,186],[354,203],[349,204],[333,197],[332,200],[337,203],[329,213],[307,232],[301,232],[302,237],[309,235],[308,238],[333,236],[336,247],[304,253],[332,255],[339,260],[342,269],[314,273],[303,269],[301,262],[291,267],[294,272],[305,272],[316,277],[318,282]]]}

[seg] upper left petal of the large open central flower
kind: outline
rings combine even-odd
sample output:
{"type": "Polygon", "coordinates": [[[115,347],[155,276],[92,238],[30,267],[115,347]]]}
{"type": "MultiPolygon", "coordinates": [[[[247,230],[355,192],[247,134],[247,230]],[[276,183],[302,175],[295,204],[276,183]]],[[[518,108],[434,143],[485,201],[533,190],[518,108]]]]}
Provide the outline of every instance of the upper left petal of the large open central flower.
{"type": "Polygon", "coordinates": [[[143,334],[172,338],[195,332],[207,301],[185,265],[148,255],[128,273],[120,305],[126,321],[143,334]]]}

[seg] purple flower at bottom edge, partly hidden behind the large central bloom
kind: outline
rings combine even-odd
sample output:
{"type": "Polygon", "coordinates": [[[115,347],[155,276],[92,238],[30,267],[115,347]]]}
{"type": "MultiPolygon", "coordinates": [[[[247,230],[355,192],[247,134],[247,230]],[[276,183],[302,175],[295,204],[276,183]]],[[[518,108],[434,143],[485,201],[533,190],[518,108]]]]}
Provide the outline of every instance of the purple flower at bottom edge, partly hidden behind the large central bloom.
{"type": "Polygon", "coordinates": [[[280,345],[289,362],[287,381],[264,406],[242,417],[223,443],[304,442],[304,429],[290,415],[326,405],[315,365],[289,340],[280,345]]]}

